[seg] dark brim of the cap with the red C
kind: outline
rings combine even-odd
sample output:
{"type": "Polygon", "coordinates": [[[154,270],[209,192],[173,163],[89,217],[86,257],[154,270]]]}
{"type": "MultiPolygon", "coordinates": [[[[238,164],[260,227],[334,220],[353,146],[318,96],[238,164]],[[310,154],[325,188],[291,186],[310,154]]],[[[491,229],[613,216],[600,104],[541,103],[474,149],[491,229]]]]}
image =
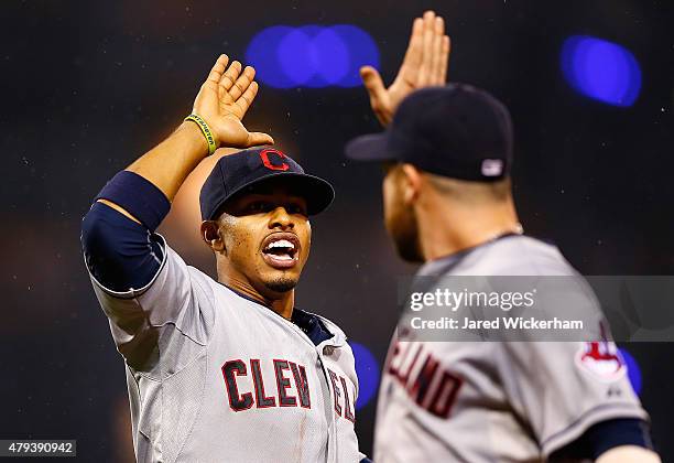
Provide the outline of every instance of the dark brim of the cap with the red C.
{"type": "MultiPolygon", "coordinates": [[[[326,180],[319,176],[309,175],[300,172],[278,172],[257,179],[250,183],[241,185],[237,190],[230,192],[227,197],[216,207],[216,212],[233,196],[254,192],[260,186],[279,182],[282,185],[287,185],[287,189],[306,200],[306,209],[308,215],[316,215],[325,211],[335,198],[335,190],[326,180]]],[[[216,213],[214,213],[216,215],[216,213]]]]}

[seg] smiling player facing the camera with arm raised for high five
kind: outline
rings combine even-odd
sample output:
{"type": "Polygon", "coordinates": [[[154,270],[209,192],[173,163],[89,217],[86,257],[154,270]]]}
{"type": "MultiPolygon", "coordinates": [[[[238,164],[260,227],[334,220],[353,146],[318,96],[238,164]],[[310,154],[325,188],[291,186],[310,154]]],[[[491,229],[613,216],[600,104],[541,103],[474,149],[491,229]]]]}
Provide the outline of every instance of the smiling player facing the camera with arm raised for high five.
{"type": "Polygon", "coordinates": [[[254,69],[221,55],[193,114],[118,173],[83,220],[94,291],[124,358],[139,462],[358,462],[358,380],[344,332],[294,306],[325,180],[281,151],[217,161],[200,192],[217,281],[154,233],[219,147],[273,143],[241,119],[254,69]]]}

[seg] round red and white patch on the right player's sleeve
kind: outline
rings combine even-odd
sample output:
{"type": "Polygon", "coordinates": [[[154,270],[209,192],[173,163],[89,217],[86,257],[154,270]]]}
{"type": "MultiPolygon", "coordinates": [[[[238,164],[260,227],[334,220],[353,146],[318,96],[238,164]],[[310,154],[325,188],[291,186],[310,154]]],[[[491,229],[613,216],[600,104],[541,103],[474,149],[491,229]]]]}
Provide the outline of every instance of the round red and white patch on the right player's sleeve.
{"type": "Polygon", "coordinates": [[[616,344],[609,342],[583,343],[576,353],[576,366],[605,383],[616,381],[627,373],[622,355],[616,344]]]}

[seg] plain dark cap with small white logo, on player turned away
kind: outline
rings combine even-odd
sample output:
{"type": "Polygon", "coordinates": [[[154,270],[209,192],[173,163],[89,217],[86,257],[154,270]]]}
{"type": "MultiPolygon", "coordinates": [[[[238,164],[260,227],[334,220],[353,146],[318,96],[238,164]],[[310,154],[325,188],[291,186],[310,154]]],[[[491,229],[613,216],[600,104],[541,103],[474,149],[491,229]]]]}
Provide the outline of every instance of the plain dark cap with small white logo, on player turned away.
{"type": "Polygon", "coordinates": [[[512,122],[506,106],[485,90],[465,84],[428,87],[402,101],[385,131],[350,141],[346,154],[493,182],[512,165],[512,122]]]}

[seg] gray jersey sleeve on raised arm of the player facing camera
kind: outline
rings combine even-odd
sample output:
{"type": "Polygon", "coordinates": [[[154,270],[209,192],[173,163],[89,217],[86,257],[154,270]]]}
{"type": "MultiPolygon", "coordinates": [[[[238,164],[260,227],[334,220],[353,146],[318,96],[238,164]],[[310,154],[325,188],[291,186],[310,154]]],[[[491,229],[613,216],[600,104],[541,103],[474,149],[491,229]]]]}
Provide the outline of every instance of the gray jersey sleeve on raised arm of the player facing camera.
{"type": "MultiPolygon", "coordinates": [[[[214,322],[214,295],[205,276],[189,268],[159,236],[164,257],[145,287],[118,292],[89,276],[110,322],[115,344],[129,366],[137,370],[152,370],[157,365],[160,352],[174,351],[160,349],[162,344],[173,347],[206,345],[214,322]],[[181,340],[173,341],[178,336],[181,340]]],[[[183,351],[187,354],[191,349],[183,351]]],[[[174,364],[182,363],[177,358],[174,360],[174,364]]],[[[167,367],[174,369],[175,365],[167,367]]]]}

